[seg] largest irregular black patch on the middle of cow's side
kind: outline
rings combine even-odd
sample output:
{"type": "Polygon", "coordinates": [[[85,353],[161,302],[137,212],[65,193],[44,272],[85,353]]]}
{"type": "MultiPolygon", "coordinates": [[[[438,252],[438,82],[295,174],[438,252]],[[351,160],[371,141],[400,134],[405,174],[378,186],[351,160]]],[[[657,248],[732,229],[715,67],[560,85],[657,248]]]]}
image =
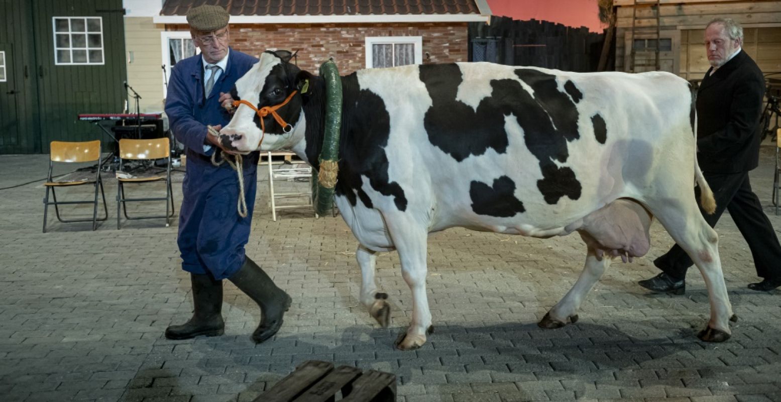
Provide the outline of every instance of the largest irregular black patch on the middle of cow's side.
{"type": "MultiPolygon", "coordinates": [[[[513,116],[523,129],[526,147],[540,161],[544,178],[537,182],[537,187],[549,203],[558,202],[562,192],[547,192],[564,184],[558,183],[559,179],[575,177],[569,167],[557,167],[554,163],[565,163],[569,157],[567,142],[580,138],[578,110],[572,99],[582,99],[583,95],[574,84],[569,85],[572,91],[561,92],[554,75],[518,69],[515,74],[533,89],[533,96],[516,80],[492,80],[490,96],[473,109],[456,100],[458,86],[463,82],[458,65],[426,64],[419,69],[420,80],[432,101],[423,125],[434,146],[458,162],[471,155],[480,156],[488,148],[506,153],[508,134],[504,122],[505,117],[513,116]],[[562,174],[558,173],[560,170],[562,174]]],[[[565,184],[572,185],[572,181],[565,184]]],[[[580,183],[575,181],[574,185],[565,195],[577,199],[580,183]]]]}

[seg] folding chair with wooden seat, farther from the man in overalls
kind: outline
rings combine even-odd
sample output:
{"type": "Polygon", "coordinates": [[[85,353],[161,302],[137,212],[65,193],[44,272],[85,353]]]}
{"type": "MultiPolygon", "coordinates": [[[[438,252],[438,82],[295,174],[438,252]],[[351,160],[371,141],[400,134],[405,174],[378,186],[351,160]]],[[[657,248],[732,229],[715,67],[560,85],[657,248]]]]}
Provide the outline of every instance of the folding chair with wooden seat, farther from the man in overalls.
{"type": "Polygon", "coordinates": [[[44,186],[46,187],[46,196],[44,198],[44,233],[46,233],[46,220],[48,218],[48,206],[53,205],[57,220],[60,222],[88,222],[92,221],[92,230],[98,228],[98,221],[105,221],[109,218],[109,208],[105,204],[105,193],[103,192],[103,181],[100,177],[102,167],[100,141],[87,142],[62,142],[52,141],[49,148],[49,171],[44,186]],[[95,174],[95,180],[77,180],[77,181],[54,181],[52,179],[52,167],[55,162],[59,163],[77,163],[77,162],[98,162],[98,173],[95,174]],[[92,201],[57,201],[56,187],[73,187],[77,185],[93,185],[95,187],[95,199],[92,201]],[[103,196],[103,210],[105,216],[98,219],[98,187],[100,187],[103,196]],[[49,191],[52,192],[53,202],[49,202],[49,191]],[[66,204],[94,204],[92,209],[92,219],[62,219],[59,216],[58,205],[66,204]]]}

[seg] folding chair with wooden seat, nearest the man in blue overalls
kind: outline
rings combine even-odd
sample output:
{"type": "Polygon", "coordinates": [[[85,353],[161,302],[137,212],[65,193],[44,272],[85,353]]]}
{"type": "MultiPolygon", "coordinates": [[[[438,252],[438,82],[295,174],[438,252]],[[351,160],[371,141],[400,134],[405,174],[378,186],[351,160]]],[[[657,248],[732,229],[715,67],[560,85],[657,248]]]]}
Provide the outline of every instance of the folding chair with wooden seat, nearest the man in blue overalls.
{"type": "Polygon", "coordinates": [[[171,189],[171,149],[168,138],[129,139],[119,140],[119,170],[116,172],[116,228],[119,229],[119,209],[128,220],[131,219],[155,219],[166,218],[166,228],[170,226],[170,218],[173,217],[173,191],[171,189]],[[123,174],[125,160],[166,160],[165,176],[127,177],[123,174]],[[125,185],[127,183],[150,183],[152,181],[166,182],[166,196],[152,198],[127,198],[125,185]],[[169,203],[170,200],[170,203],[169,203]],[[127,202],[132,201],[165,201],[165,215],[150,215],[144,217],[129,217],[127,215],[127,202]]]}

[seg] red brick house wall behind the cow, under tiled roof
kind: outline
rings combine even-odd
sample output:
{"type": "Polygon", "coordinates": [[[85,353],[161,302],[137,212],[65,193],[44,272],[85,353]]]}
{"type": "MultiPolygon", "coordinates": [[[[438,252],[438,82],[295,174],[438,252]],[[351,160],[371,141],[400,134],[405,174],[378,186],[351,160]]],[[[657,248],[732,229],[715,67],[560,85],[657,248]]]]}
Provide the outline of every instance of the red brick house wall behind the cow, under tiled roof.
{"type": "Polygon", "coordinates": [[[466,23],[382,23],[361,24],[232,24],[230,45],[260,56],[266,48],[298,49],[298,66],[316,74],[333,56],[340,74],[366,68],[367,36],[421,36],[423,63],[467,61],[466,23]],[[426,56],[428,55],[428,56],[426,56]]]}

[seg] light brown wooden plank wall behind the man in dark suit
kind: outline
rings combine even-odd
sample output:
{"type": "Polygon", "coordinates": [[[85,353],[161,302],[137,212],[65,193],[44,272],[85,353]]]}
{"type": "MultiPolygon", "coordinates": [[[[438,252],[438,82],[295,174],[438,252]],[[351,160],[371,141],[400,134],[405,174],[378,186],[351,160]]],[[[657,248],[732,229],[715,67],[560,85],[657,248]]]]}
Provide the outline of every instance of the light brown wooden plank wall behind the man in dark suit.
{"type": "MultiPolygon", "coordinates": [[[[634,4],[633,0],[614,1],[618,16],[615,69],[619,71],[628,67],[625,51],[632,27],[634,4]]],[[[635,27],[641,27],[639,31],[642,27],[651,30],[656,27],[651,4],[655,4],[655,0],[637,0],[635,27]]],[[[701,76],[707,65],[702,33],[705,25],[717,16],[733,18],[744,24],[746,51],[761,64],[765,73],[781,71],[781,1],[661,0],[660,4],[659,26],[662,38],[665,35],[673,38],[672,52],[678,66],[674,73],[683,77],[701,76]]]]}

